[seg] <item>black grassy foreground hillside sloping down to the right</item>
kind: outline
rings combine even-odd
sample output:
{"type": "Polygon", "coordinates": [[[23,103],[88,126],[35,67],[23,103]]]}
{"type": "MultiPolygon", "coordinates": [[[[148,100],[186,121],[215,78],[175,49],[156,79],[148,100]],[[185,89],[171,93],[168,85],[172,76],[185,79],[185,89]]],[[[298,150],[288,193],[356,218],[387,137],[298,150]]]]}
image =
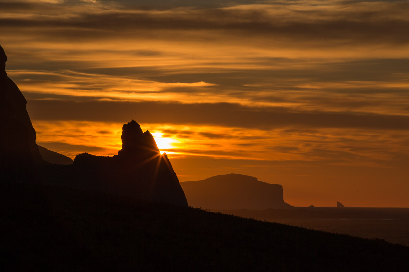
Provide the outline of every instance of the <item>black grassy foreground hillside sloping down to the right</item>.
{"type": "Polygon", "coordinates": [[[200,209],[0,184],[1,271],[409,271],[409,248],[200,209]]]}

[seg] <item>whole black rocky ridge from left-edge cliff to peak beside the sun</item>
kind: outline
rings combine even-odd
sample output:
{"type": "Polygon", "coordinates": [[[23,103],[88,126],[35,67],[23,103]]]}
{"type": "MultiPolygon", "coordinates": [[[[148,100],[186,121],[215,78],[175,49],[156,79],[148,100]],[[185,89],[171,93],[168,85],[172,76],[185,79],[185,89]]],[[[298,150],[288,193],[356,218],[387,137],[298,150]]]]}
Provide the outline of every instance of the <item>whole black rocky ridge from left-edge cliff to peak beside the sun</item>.
{"type": "Polygon", "coordinates": [[[88,153],[74,162],[37,146],[27,101],[7,76],[0,46],[0,180],[52,184],[188,206],[171,163],[155,139],[132,120],[122,127],[122,150],[113,157],[88,153]]]}

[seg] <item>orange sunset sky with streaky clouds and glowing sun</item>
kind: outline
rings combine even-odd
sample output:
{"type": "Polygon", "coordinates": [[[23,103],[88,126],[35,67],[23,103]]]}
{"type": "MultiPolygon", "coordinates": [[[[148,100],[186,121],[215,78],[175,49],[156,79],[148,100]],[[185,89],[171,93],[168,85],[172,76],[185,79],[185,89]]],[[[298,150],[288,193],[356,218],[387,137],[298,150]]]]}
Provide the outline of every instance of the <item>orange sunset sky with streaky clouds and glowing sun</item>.
{"type": "Polygon", "coordinates": [[[240,173],[294,206],[409,207],[408,14],[408,1],[0,0],[0,44],[50,150],[116,155],[134,119],[180,181],[240,173]]]}

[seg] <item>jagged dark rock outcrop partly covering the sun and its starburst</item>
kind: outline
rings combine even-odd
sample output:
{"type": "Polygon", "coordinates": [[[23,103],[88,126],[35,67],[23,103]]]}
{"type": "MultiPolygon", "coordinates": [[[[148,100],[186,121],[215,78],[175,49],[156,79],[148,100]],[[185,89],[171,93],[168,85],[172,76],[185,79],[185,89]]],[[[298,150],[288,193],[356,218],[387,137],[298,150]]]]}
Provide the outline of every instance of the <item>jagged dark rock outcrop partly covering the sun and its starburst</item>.
{"type": "Polygon", "coordinates": [[[132,120],[122,127],[122,149],[113,157],[88,153],[74,159],[75,180],[91,190],[148,199],[179,206],[187,200],[166,156],[149,131],[132,120]]]}

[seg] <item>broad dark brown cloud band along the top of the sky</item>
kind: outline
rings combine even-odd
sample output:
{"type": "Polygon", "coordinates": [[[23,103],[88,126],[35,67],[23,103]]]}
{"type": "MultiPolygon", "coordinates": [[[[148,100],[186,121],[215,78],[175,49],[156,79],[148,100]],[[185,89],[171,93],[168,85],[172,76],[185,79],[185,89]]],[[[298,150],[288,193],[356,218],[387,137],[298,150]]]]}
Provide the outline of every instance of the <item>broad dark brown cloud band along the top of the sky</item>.
{"type": "Polygon", "coordinates": [[[287,46],[308,50],[345,48],[350,44],[375,48],[380,44],[399,46],[409,41],[405,35],[409,27],[405,16],[408,4],[405,2],[343,4],[331,1],[322,4],[305,1],[291,5],[275,2],[164,10],[121,7],[111,2],[67,3],[31,3],[30,10],[4,3],[9,12],[2,15],[0,25],[8,29],[25,27],[48,38],[57,37],[60,42],[67,37],[88,40],[124,38],[124,35],[126,40],[126,36],[129,38],[133,34],[143,38],[160,35],[166,40],[173,39],[175,31],[182,39],[189,35],[189,39],[204,41],[209,35],[218,33],[214,37],[229,44],[238,39],[244,44],[257,40],[263,43],[261,46],[274,46],[285,41],[287,46]],[[35,16],[38,11],[42,11],[42,16],[35,16]],[[244,36],[247,39],[243,39],[244,36]],[[288,43],[294,38],[298,42],[288,43]]]}

